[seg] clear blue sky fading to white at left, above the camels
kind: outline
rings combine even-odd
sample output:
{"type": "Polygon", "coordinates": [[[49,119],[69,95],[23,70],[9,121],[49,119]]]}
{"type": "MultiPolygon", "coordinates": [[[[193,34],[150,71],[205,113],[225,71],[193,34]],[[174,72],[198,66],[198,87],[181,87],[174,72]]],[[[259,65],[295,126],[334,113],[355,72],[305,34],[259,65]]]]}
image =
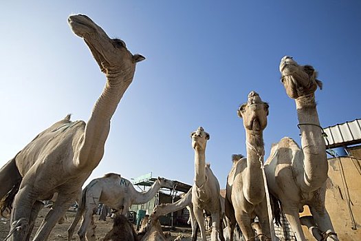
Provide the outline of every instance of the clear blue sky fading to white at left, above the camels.
{"type": "Polygon", "coordinates": [[[280,82],[283,56],[318,70],[322,127],[361,118],[360,12],[356,0],[3,1],[0,165],[68,113],[87,121],[105,85],[69,14],[86,14],[146,57],[87,182],[152,172],[192,184],[190,132],[202,126],[210,134],[206,160],[224,188],[232,154],[245,155],[237,108],[250,91],[270,104],[265,157],[283,136],[300,143],[295,103],[280,82]]]}

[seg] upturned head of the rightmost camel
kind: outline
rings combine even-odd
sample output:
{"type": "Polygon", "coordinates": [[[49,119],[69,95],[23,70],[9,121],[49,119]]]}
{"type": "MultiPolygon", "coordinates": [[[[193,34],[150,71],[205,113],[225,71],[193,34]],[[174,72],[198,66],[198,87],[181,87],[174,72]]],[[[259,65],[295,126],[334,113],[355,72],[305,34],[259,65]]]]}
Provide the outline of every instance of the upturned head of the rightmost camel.
{"type": "Polygon", "coordinates": [[[298,98],[314,94],[317,87],[322,90],[322,82],[311,65],[298,65],[290,56],[284,56],[280,63],[281,82],[289,98],[298,98]]]}

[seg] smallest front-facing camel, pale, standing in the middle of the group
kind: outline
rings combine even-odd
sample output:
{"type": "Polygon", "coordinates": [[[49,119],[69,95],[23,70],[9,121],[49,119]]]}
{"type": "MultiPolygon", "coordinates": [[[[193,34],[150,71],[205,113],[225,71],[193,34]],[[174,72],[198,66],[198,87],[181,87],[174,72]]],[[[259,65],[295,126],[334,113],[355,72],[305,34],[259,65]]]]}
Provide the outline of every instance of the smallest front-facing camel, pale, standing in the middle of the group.
{"type": "Polygon", "coordinates": [[[219,198],[219,182],[206,165],[206,145],[210,135],[204,132],[203,127],[198,127],[190,134],[192,147],[195,151],[195,183],[192,187],[192,205],[195,219],[201,230],[201,238],[206,241],[206,229],[204,227],[204,210],[212,216],[212,233],[210,239],[224,240],[221,228],[221,202],[219,198]]]}

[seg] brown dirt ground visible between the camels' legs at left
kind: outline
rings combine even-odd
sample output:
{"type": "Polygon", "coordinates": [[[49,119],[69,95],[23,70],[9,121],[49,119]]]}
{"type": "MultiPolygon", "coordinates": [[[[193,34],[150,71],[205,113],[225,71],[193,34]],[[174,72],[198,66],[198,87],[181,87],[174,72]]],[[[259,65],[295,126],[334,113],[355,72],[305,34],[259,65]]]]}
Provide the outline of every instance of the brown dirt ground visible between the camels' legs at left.
{"type": "MultiPolygon", "coordinates": [[[[47,211],[49,209],[43,208],[38,218],[36,219],[36,224],[32,233],[32,238],[34,237],[34,234],[36,230],[38,229],[39,225],[43,221],[44,217],[47,214],[47,211]]],[[[50,241],[66,241],[67,240],[67,229],[69,228],[70,224],[72,224],[72,221],[75,216],[74,211],[67,211],[67,220],[63,224],[56,224],[54,229],[49,235],[49,238],[47,240],[50,241]]],[[[109,217],[107,217],[107,221],[101,221],[98,220],[98,216],[94,216],[94,220],[96,221],[96,239],[100,240],[101,238],[104,238],[105,234],[111,229],[113,226],[113,220],[109,217]]],[[[80,227],[80,222],[78,223],[78,226],[76,227],[74,231],[74,235],[72,240],[79,240],[78,234],[76,233],[80,227]]],[[[176,227],[175,229],[170,229],[169,227],[162,227],[163,231],[170,231],[171,232],[171,240],[177,238],[179,235],[184,236],[184,241],[191,240],[191,230],[188,227],[176,227]]],[[[8,235],[10,231],[10,218],[1,218],[0,221],[0,240],[4,240],[6,238],[6,235],[8,235]]]]}

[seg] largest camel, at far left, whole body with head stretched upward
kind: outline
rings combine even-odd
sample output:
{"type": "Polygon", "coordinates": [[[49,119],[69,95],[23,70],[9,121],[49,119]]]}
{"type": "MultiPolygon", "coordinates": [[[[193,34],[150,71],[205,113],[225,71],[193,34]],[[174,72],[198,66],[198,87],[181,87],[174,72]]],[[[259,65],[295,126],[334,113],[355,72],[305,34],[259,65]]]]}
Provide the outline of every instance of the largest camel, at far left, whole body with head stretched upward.
{"type": "Polygon", "coordinates": [[[102,160],[110,120],[135,73],[135,64],[144,60],[131,54],[124,41],[110,39],[89,17],[78,14],[68,18],[74,34],[84,39],[107,81],[87,123],[70,121],[68,115],[36,136],[0,169],[0,198],[14,186],[10,240],[30,239],[40,200],[58,198],[34,236],[47,240],[56,222],[81,191],[85,180],[102,160]]]}

